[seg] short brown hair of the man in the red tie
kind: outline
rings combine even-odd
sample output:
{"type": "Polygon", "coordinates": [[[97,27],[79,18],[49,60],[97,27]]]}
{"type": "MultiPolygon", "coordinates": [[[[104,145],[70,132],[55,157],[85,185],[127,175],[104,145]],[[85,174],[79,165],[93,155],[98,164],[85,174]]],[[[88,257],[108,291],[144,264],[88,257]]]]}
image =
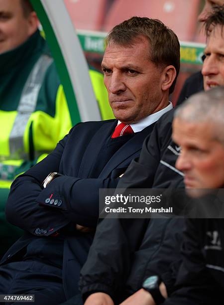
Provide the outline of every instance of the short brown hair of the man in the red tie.
{"type": "Polygon", "coordinates": [[[177,35],[162,21],[148,17],[131,17],[114,26],[106,38],[106,45],[111,41],[120,45],[131,45],[139,36],[144,36],[150,43],[149,58],[156,65],[173,65],[176,78],[169,93],[175,88],[180,71],[180,43],[177,35]]]}

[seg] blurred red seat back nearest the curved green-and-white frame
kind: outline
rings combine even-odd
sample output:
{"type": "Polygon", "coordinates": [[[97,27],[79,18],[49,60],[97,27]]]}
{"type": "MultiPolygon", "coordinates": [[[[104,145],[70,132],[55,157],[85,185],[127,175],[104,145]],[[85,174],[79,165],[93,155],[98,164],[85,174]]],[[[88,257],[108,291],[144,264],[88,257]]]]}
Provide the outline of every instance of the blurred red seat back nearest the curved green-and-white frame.
{"type": "Polygon", "coordinates": [[[107,0],[64,0],[64,2],[76,28],[101,29],[107,0]]]}

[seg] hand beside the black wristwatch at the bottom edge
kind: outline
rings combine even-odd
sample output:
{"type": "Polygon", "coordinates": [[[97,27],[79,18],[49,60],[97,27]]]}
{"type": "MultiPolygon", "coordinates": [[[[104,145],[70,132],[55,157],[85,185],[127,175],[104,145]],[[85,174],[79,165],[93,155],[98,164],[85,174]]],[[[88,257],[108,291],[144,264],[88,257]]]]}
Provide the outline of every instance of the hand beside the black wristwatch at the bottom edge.
{"type": "MultiPolygon", "coordinates": [[[[150,293],[143,288],[124,300],[120,305],[156,305],[150,293]]],[[[85,304],[86,305],[86,304],[85,304]]]]}

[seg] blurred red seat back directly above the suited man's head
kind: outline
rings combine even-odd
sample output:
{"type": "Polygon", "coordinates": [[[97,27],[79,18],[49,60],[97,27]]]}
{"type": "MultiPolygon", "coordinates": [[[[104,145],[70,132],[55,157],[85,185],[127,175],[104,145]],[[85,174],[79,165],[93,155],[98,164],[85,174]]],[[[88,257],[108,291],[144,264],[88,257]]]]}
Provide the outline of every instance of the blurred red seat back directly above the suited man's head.
{"type": "Polygon", "coordinates": [[[192,40],[197,26],[200,0],[115,0],[103,29],[131,16],[160,19],[174,30],[180,40],[192,40]]]}

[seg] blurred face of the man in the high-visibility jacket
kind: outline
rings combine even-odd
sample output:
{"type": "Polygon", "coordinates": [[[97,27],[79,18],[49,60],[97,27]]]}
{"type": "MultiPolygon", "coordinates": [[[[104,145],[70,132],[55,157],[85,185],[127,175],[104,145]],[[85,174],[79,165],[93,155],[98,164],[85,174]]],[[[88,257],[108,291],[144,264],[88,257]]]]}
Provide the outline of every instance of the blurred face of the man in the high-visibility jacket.
{"type": "Polygon", "coordinates": [[[30,35],[20,0],[0,0],[0,53],[22,44],[30,35]]]}

